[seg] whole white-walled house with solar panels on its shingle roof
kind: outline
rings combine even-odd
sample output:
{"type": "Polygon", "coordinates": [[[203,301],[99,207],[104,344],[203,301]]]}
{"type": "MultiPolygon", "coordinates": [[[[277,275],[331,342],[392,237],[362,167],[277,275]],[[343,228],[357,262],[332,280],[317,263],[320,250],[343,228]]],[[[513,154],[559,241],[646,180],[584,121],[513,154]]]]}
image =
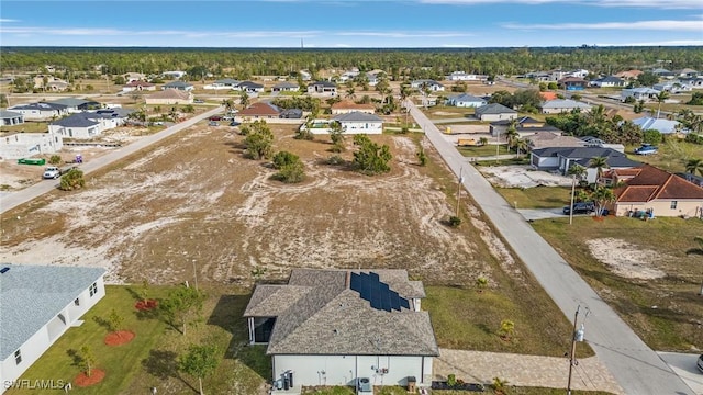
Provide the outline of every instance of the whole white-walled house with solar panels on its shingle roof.
{"type": "Polygon", "coordinates": [[[275,381],[428,386],[439,348],[423,297],[405,270],[293,269],[288,284],[257,285],[244,317],[275,381]]]}

